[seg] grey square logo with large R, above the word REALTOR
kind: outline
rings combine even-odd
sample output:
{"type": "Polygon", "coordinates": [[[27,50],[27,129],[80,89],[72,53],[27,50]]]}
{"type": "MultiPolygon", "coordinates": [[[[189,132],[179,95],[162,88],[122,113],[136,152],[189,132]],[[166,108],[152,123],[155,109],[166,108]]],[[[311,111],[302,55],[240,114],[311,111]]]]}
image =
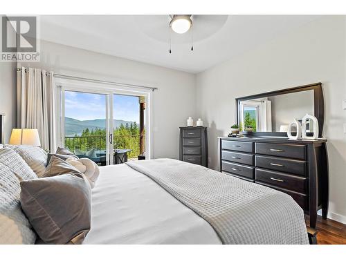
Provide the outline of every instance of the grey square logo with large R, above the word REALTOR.
{"type": "Polygon", "coordinates": [[[2,52],[36,52],[36,17],[2,17],[2,52]]]}

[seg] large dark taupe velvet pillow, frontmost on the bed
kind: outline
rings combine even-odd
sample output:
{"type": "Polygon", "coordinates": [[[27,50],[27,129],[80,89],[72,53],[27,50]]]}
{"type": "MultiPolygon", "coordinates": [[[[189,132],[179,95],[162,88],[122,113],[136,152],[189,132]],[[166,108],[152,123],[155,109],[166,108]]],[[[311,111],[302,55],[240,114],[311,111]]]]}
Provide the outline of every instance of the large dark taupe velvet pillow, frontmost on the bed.
{"type": "Polygon", "coordinates": [[[23,181],[20,200],[46,244],[80,244],[90,230],[91,188],[82,173],[23,181]]]}

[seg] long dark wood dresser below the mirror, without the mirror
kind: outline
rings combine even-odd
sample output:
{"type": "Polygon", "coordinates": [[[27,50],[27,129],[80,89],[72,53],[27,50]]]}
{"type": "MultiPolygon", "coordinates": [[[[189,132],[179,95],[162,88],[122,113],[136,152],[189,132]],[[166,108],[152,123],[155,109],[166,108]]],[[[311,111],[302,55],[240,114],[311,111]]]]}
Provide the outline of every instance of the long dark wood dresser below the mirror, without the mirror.
{"type": "Polygon", "coordinates": [[[317,211],[327,218],[327,140],[278,137],[220,137],[220,171],[291,195],[316,227],[317,211]]]}

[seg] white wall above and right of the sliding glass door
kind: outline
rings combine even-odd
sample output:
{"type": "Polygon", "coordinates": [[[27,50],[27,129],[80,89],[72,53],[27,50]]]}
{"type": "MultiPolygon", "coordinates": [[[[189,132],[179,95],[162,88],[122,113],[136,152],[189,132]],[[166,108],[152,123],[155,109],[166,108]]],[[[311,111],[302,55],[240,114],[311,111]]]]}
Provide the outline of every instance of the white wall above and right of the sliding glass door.
{"type": "Polygon", "coordinates": [[[179,157],[179,126],[195,115],[194,75],[48,41],[41,41],[41,62],[22,65],[158,87],[153,96],[154,158],[179,157]]]}

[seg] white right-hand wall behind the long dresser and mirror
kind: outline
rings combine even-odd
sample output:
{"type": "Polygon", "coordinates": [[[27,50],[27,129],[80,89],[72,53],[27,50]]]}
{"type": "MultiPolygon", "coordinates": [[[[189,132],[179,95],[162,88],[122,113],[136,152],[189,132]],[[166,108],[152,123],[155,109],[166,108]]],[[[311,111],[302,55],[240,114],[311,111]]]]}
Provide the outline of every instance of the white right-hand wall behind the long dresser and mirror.
{"type": "MultiPolygon", "coordinates": [[[[255,26],[255,25],[254,25],[255,26]]],[[[330,170],[329,217],[346,223],[346,19],[322,17],[283,37],[197,75],[197,115],[211,124],[209,153],[235,123],[235,97],[318,81],[325,93],[330,170]]]]}

